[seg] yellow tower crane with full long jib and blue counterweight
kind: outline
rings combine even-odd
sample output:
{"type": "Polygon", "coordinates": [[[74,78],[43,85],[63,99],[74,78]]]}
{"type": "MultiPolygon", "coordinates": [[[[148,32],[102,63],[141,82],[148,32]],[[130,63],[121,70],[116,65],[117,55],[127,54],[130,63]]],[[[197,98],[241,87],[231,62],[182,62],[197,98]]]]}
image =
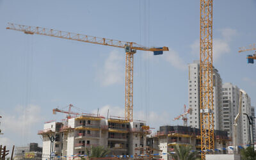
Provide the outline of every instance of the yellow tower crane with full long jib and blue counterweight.
{"type": "Polygon", "coordinates": [[[87,42],[91,44],[108,45],[112,47],[119,47],[125,49],[125,118],[132,121],[133,108],[133,55],[137,50],[152,51],[154,55],[163,54],[163,51],[169,51],[168,47],[145,47],[135,42],[124,42],[120,40],[111,40],[108,38],[100,38],[97,36],[81,35],[78,33],[70,33],[67,31],[58,31],[55,29],[47,29],[34,26],[24,26],[20,24],[8,23],[6,29],[15,31],[22,31],[31,35],[45,35],[54,36],[57,38],[64,38],[68,40],[76,40],[80,42],[87,42]]]}

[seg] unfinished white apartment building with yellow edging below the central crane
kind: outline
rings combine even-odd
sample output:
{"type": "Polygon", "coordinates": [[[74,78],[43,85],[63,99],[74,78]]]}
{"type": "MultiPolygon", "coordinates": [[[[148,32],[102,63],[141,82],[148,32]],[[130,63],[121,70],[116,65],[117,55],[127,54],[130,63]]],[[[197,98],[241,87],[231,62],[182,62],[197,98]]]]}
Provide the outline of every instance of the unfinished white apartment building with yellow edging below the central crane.
{"type": "Polygon", "coordinates": [[[86,148],[90,150],[92,146],[108,148],[110,156],[140,155],[138,148],[146,146],[149,132],[145,122],[88,115],[44,124],[44,130],[38,134],[43,138],[42,159],[49,159],[51,153],[49,136],[55,138],[54,155],[67,156],[68,159],[86,154],[86,148]]]}

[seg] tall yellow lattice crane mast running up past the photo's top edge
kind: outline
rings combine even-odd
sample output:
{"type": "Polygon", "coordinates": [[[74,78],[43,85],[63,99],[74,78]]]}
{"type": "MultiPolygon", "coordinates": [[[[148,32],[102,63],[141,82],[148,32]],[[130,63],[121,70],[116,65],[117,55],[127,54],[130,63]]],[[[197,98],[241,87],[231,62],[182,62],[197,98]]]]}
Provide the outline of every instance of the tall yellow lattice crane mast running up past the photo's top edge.
{"type": "Polygon", "coordinates": [[[200,131],[202,159],[214,149],[212,0],[200,0],[200,131]]]}

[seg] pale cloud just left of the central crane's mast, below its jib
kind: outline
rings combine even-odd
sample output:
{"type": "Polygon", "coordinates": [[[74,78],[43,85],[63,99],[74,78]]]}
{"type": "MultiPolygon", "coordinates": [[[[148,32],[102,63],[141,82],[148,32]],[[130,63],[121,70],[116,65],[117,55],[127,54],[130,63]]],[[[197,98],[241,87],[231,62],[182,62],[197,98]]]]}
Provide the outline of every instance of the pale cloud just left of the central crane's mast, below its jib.
{"type": "Polygon", "coordinates": [[[110,52],[97,76],[102,86],[124,83],[124,65],[123,54],[118,51],[110,52]]]}

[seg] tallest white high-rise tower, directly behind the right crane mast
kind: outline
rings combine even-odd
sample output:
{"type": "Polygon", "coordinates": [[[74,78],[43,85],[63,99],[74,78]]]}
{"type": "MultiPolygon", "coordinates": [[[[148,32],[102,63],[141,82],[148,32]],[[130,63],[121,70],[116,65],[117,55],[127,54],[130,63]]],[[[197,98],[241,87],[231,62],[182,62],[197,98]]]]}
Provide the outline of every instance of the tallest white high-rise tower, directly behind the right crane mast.
{"type": "MultiPolygon", "coordinates": [[[[193,61],[188,65],[188,97],[190,117],[189,125],[200,128],[200,61],[193,61]]],[[[213,68],[213,111],[214,111],[214,129],[222,129],[221,107],[222,107],[222,79],[218,70],[213,68]]]]}

